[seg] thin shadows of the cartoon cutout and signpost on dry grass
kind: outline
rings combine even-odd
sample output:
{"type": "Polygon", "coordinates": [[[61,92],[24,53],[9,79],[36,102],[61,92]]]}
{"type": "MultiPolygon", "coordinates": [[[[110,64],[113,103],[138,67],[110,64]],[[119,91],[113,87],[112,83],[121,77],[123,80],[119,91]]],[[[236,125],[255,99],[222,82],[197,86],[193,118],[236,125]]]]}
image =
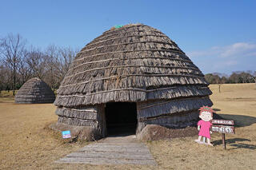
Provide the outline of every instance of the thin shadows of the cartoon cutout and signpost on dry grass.
{"type": "MultiPolygon", "coordinates": [[[[235,144],[236,142],[242,142],[242,141],[250,141],[250,140],[245,139],[245,138],[232,138],[232,139],[226,140],[226,144],[230,144],[230,146],[234,147],[234,148],[230,148],[230,149],[237,149],[237,148],[248,148],[251,150],[256,149],[256,145],[254,145],[254,144],[242,144],[242,143],[235,144]]],[[[222,140],[214,140],[212,142],[212,144],[214,144],[214,146],[221,145],[222,140]]]]}

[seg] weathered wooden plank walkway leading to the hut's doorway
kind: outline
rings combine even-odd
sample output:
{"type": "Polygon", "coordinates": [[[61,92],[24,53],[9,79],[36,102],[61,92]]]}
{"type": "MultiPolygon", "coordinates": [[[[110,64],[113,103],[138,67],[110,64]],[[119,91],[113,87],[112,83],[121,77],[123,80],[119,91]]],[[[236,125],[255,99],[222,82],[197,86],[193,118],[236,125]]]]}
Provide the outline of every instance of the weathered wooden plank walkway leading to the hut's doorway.
{"type": "Polygon", "coordinates": [[[146,145],[140,143],[88,144],[78,152],[57,160],[56,163],[156,165],[146,145]]]}

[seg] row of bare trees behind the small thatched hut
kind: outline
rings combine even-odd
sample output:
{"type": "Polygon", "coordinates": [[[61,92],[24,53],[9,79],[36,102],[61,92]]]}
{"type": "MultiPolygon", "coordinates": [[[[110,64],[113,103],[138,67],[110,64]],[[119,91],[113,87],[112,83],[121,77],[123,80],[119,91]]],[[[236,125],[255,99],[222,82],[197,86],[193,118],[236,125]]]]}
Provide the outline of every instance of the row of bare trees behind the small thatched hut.
{"type": "Polygon", "coordinates": [[[78,50],[48,45],[46,49],[28,46],[20,34],[0,38],[0,93],[19,89],[32,77],[58,89],[78,50]]]}

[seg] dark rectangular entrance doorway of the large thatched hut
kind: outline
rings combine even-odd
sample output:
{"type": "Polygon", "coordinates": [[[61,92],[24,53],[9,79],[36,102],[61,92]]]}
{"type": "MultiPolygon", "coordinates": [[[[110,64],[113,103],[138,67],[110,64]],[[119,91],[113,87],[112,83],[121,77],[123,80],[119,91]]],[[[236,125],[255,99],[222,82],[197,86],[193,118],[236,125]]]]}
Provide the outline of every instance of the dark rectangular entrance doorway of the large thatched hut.
{"type": "Polygon", "coordinates": [[[136,133],[137,107],[136,103],[110,102],[106,103],[107,135],[128,136],[136,133]]]}

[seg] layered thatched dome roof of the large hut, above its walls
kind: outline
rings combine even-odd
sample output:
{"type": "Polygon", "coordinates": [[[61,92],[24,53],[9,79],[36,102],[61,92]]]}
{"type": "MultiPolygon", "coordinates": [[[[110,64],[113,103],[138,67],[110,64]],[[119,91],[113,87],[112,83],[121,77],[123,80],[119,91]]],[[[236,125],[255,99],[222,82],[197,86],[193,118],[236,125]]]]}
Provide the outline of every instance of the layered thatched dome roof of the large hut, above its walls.
{"type": "Polygon", "coordinates": [[[211,94],[204,75],[170,38],[150,26],[110,29],[75,57],[55,105],[147,101],[211,94]]]}

